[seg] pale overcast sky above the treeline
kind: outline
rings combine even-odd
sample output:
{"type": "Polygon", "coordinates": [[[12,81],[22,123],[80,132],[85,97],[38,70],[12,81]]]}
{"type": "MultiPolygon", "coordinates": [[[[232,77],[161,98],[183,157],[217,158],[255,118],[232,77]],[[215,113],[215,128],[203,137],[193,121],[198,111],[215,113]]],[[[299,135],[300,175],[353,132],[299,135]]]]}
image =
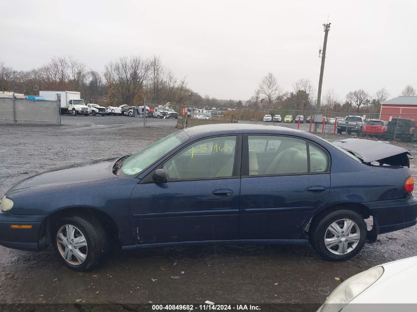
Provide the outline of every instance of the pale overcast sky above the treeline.
{"type": "Polygon", "coordinates": [[[0,62],[32,69],[74,56],[103,71],[124,55],[159,55],[204,96],[247,100],[271,71],[287,90],[317,89],[323,26],[332,23],[323,92],[344,99],[417,88],[417,1],[0,0],[0,62]],[[343,3],[343,4],[342,4],[343,3]]]}

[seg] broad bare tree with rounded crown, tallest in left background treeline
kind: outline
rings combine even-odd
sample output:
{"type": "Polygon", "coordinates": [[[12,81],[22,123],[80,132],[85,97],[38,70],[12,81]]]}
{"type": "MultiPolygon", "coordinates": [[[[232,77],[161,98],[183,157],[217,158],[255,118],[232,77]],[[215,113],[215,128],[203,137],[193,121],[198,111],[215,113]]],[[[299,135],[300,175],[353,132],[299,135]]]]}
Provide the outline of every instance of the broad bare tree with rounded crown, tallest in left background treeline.
{"type": "MultiPolygon", "coordinates": [[[[150,62],[140,56],[120,57],[104,70],[111,97],[123,104],[134,104],[149,77],[150,62]]],[[[113,101],[113,100],[112,100],[113,101]]]]}

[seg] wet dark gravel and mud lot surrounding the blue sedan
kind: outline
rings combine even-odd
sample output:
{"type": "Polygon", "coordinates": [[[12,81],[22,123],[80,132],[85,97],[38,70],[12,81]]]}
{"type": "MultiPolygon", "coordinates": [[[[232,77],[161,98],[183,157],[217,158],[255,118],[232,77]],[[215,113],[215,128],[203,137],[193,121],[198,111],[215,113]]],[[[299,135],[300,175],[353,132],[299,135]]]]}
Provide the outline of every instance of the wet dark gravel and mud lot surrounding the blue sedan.
{"type": "MultiPolygon", "coordinates": [[[[35,173],[134,152],[175,131],[175,123],[152,119],[144,129],[140,118],[116,116],[63,116],[61,126],[0,122],[0,196],[35,173]]],[[[398,144],[417,155],[414,144],[398,144]]],[[[411,161],[413,174],[416,164],[411,161]]],[[[380,235],[343,263],[322,260],[309,245],[210,245],[115,253],[101,268],[76,273],[52,248],[35,253],[0,246],[0,303],[321,304],[326,289],[342,280],[417,255],[416,229],[380,235]]]]}

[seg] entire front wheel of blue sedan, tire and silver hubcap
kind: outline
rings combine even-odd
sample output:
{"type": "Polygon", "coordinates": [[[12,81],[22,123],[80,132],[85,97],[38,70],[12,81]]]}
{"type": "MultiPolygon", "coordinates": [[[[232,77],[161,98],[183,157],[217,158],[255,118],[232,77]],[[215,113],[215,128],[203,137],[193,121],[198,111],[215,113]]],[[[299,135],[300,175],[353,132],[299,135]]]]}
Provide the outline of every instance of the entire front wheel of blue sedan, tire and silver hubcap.
{"type": "Polygon", "coordinates": [[[101,224],[85,216],[66,216],[53,229],[55,251],[67,267],[89,271],[107,255],[107,239],[101,224]]]}

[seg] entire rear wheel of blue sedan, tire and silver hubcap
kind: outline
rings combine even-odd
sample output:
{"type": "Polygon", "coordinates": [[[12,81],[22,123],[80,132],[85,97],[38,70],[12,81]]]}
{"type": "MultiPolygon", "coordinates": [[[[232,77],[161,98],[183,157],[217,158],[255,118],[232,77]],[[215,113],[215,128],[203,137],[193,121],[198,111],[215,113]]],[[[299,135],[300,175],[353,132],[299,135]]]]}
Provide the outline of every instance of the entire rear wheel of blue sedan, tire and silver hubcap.
{"type": "Polygon", "coordinates": [[[352,210],[336,210],[313,220],[310,243],[326,260],[343,261],[355,256],[366,242],[366,223],[352,210]]]}

